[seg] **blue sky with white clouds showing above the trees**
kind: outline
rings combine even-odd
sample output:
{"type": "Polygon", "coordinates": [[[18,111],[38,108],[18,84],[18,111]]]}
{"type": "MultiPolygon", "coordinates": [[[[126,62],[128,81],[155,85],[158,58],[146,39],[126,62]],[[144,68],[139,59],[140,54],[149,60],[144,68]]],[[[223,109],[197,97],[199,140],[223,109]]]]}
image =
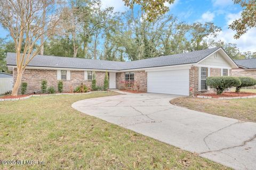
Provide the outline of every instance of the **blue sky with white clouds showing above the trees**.
{"type": "MultiPolygon", "coordinates": [[[[103,7],[113,6],[114,11],[125,11],[128,8],[124,6],[122,0],[102,0],[103,7]]],[[[235,32],[228,29],[235,19],[239,18],[242,8],[235,5],[232,0],[175,0],[170,6],[170,14],[177,16],[180,21],[187,23],[213,22],[222,31],[217,40],[226,41],[226,43],[236,43],[242,52],[256,52],[256,28],[249,30],[240,39],[233,38],[235,32]]],[[[0,37],[5,38],[8,32],[0,27],[0,37]]]]}

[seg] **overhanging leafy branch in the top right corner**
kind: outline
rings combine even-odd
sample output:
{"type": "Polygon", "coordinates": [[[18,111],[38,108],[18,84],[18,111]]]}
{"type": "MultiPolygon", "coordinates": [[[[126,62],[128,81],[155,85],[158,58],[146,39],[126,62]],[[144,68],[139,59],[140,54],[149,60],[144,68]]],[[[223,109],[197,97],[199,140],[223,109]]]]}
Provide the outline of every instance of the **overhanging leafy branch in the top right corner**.
{"type": "Polygon", "coordinates": [[[249,29],[256,27],[256,1],[255,0],[233,0],[243,8],[241,18],[233,21],[229,28],[236,31],[235,39],[240,38],[249,29]]]}

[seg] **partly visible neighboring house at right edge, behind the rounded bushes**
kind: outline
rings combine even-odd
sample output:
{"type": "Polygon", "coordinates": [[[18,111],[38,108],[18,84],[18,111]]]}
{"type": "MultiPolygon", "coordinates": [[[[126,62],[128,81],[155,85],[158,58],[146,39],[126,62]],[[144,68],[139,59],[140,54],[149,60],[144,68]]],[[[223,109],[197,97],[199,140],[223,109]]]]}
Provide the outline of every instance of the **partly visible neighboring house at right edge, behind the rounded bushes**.
{"type": "MultiPolygon", "coordinates": [[[[238,69],[232,70],[232,75],[235,77],[252,77],[256,79],[256,58],[245,59],[245,60],[235,60],[238,65],[238,69]]],[[[253,88],[256,88],[254,86],[253,88]]]]}

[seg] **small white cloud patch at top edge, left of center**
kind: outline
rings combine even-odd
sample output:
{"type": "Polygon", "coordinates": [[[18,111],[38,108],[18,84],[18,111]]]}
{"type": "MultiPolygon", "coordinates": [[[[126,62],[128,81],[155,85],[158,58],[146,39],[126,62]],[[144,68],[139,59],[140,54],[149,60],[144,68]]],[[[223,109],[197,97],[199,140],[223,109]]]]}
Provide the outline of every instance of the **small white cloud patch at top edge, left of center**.
{"type": "Polygon", "coordinates": [[[122,0],[102,0],[101,3],[103,8],[114,7],[115,12],[123,12],[129,9],[122,0]]]}

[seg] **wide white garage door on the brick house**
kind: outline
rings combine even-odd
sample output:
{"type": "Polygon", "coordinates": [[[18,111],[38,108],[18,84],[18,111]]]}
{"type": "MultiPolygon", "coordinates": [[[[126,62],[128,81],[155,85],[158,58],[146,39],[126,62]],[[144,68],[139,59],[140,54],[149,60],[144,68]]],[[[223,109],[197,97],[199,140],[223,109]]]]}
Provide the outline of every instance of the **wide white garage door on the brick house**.
{"type": "Polygon", "coordinates": [[[189,95],[189,70],[154,71],[147,73],[148,92],[189,95]]]}

